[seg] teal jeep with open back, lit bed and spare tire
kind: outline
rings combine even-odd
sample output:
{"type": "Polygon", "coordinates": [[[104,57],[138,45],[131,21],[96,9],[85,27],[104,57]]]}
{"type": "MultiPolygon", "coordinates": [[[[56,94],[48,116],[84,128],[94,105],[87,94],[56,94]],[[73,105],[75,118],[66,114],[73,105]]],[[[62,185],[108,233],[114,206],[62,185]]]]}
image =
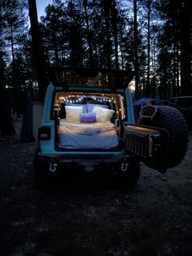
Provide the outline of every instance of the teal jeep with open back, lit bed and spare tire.
{"type": "Polygon", "coordinates": [[[177,109],[147,104],[135,124],[133,73],[102,68],[50,68],[34,155],[34,183],[70,170],[113,170],[137,183],[140,161],[162,173],[185,157],[188,130],[177,109]]]}

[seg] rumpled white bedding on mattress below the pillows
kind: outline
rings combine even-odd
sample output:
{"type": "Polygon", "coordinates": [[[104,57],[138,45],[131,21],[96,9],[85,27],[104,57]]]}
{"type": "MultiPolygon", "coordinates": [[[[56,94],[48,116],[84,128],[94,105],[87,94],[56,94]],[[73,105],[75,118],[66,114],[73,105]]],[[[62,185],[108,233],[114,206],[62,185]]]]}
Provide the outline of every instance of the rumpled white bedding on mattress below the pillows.
{"type": "Polygon", "coordinates": [[[59,121],[59,146],[63,148],[115,148],[116,127],[111,123],[59,121]]]}

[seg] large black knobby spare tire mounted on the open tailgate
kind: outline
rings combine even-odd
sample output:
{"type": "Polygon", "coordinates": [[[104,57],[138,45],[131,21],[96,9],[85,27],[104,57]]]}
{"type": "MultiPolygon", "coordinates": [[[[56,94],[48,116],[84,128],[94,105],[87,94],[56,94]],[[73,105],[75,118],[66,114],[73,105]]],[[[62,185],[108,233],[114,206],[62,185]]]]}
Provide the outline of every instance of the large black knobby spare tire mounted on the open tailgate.
{"type": "MultiPolygon", "coordinates": [[[[155,108],[156,113],[151,119],[151,126],[168,131],[167,168],[172,168],[180,164],[185,157],[189,141],[189,131],[185,118],[176,108],[169,106],[155,106],[155,108]]],[[[143,126],[149,126],[149,118],[140,118],[138,123],[143,126]]]]}

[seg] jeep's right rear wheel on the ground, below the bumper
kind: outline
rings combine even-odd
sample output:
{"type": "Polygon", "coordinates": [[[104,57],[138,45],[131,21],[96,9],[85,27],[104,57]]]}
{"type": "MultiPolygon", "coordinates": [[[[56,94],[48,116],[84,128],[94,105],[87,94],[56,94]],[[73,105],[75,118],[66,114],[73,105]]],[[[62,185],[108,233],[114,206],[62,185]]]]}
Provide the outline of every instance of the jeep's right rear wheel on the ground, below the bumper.
{"type": "Polygon", "coordinates": [[[120,164],[120,183],[133,185],[137,183],[140,176],[140,162],[135,157],[129,157],[120,164]]]}

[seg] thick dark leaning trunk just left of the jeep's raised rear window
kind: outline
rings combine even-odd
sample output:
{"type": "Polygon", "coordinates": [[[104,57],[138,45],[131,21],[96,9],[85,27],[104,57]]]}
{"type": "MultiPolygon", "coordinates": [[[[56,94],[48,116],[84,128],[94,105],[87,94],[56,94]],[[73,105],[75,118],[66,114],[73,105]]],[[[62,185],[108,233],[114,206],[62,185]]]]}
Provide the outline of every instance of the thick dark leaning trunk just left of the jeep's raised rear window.
{"type": "Polygon", "coordinates": [[[29,18],[32,31],[33,42],[33,59],[36,63],[38,83],[39,83],[39,96],[41,101],[44,100],[46,95],[46,67],[42,52],[40,31],[37,19],[37,6],[36,0],[28,0],[29,18]]]}

